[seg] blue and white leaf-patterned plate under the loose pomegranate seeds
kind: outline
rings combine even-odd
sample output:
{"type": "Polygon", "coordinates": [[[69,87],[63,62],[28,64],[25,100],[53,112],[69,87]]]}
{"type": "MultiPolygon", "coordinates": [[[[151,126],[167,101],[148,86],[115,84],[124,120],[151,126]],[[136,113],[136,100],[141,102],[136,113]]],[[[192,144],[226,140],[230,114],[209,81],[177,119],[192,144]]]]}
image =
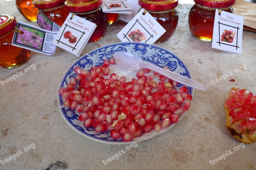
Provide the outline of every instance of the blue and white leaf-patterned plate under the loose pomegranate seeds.
{"type": "MultiPolygon", "coordinates": [[[[116,44],[111,44],[108,46],[103,46],[98,49],[95,49],[92,52],[85,54],[79,60],[77,60],[71,67],[68,68],[67,73],[64,75],[63,79],[61,80],[60,88],[61,87],[66,88],[67,84],[70,81],[70,78],[76,76],[76,73],[74,72],[74,68],[76,66],[79,66],[80,68],[89,71],[92,66],[102,65],[103,60],[106,60],[106,59],[108,60],[110,57],[113,57],[113,54],[116,51],[134,53],[140,56],[142,60],[146,62],[150,62],[159,67],[163,67],[163,66],[168,67],[176,73],[179,73],[181,75],[191,78],[191,75],[188,71],[188,68],[185,66],[185,64],[176,55],[174,55],[173,53],[171,53],[170,51],[164,48],[161,48],[155,45],[149,45],[145,43],[136,43],[136,42],[116,43],[116,44]]],[[[137,77],[135,76],[134,78],[137,78],[137,77]]],[[[178,84],[177,89],[179,89],[182,86],[183,86],[182,84],[178,84]]],[[[78,85],[76,89],[77,88],[78,88],[78,85]]],[[[188,87],[188,90],[189,90],[189,94],[193,95],[193,88],[188,87]]],[[[80,113],[76,112],[75,110],[70,110],[68,107],[63,106],[63,102],[64,100],[61,98],[61,95],[58,94],[58,104],[59,104],[60,113],[65,119],[65,121],[68,123],[68,125],[71,126],[76,132],[80,133],[81,135],[84,135],[87,138],[93,139],[95,141],[103,142],[103,143],[120,145],[120,144],[131,144],[133,141],[140,142],[142,140],[147,140],[160,133],[163,133],[175,125],[175,124],[171,124],[168,128],[163,129],[160,132],[156,132],[153,130],[149,133],[143,133],[142,136],[138,138],[133,138],[133,140],[130,142],[123,142],[122,138],[119,138],[117,140],[111,138],[109,131],[105,131],[103,133],[96,133],[93,127],[90,127],[90,128],[84,127],[83,121],[78,120],[80,113]]],[[[184,114],[180,116],[179,120],[183,116],[184,114]]]]}

